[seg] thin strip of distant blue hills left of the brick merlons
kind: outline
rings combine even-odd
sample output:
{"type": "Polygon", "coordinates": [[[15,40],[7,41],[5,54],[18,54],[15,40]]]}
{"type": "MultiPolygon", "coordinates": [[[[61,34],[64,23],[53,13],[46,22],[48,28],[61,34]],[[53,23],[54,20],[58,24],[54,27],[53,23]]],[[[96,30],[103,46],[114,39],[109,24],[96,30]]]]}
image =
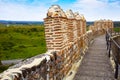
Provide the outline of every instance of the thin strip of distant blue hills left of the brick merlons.
{"type": "Polygon", "coordinates": [[[5,21],[0,20],[1,24],[43,24],[42,21],[5,21]]]}

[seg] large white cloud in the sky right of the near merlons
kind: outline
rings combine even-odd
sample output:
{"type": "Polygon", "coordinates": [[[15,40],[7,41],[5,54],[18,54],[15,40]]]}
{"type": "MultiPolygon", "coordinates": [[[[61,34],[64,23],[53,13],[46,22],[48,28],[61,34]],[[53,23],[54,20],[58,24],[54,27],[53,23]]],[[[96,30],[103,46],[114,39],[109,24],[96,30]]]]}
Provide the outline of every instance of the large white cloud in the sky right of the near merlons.
{"type": "Polygon", "coordinates": [[[120,1],[118,0],[77,0],[73,9],[84,14],[86,20],[112,19],[119,20],[120,1]]]}

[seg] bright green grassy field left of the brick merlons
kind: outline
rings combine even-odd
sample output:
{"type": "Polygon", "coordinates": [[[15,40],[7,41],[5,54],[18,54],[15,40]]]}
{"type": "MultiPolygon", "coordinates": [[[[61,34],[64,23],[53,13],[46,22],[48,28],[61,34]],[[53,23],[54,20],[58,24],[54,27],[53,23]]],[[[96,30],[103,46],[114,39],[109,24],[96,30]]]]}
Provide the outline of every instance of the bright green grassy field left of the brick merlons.
{"type": "Polygon", "coordinates": [[[46,52],[43,25],[0,25],[0,59],[26,59],[46,52]]]}

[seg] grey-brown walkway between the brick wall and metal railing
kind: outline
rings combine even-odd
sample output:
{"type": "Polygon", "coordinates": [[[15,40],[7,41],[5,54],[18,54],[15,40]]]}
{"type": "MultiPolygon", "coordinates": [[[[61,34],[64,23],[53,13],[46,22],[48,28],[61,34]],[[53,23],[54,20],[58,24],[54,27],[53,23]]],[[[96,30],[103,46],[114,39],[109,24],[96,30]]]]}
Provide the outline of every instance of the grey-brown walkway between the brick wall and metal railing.
{"type": "Polygon", "coordinates": [[[95,38],[73,80],[114,80],[105,36],[95,38]]]}

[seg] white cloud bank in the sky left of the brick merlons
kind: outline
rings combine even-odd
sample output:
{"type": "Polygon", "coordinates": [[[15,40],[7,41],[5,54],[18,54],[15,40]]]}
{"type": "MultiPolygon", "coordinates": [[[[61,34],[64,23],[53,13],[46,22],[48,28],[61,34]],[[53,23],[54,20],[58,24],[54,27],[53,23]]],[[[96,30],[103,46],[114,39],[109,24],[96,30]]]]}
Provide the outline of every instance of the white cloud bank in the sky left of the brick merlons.
{"type": "Polygon", "coordinates": [[[49,1],[41,3],[39,2],[40,0],[34,0],[30,4],[29,2],[26,2],[28,0],[9,1],[10,0],[0,0],[0,20],[43,21],[49,8],[46,6],[49,1]],[[21,2],[18,3],[19,1],[21,2]]]}

